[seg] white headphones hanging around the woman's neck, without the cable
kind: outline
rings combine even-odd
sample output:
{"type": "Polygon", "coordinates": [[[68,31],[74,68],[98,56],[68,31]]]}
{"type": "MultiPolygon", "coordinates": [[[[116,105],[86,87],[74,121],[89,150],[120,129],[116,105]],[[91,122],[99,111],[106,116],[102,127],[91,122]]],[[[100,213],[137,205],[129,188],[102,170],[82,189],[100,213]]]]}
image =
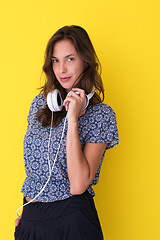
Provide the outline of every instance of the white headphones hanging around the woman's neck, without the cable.
{"type": "MultiPolygon", "coordinates": [[[[71,91],[70,91],[71,92],[71,91]]],[[[69,95],[70,92],[67,94],[69,95]]],[[[93,88],[89,94],[85,94],[85,104],[82,108],[82,111],[88,107],[89,100],[94,95],[95,89],[93,88]]],[[[76,92],[80,95],[79,92],[76,92]]],[[[54,89],[52,92],[49,92],[47,95],[47,105],[52,112],[59,112],[63,108],[63,99],[61,96],[61,92],[58,89],[54,89]]]]}

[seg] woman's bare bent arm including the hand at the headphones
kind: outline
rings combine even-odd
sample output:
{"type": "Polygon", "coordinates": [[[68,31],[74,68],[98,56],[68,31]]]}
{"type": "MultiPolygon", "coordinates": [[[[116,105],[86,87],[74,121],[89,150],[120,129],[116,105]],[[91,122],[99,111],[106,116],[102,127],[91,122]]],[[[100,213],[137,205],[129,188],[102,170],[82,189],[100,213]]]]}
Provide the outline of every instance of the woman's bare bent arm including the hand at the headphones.
{"type": "Polygon", "coordinates": [[[78,117],[82,114],[81,109],[84,105],[85,93],[81,89],[74,90],[80,92],[80,96],[71,93],[64,101],[64,105],[70,103],[69,109],[67,109],[67,170],[70,192],[76,195],[83,193],[92,182],[107,143],[87,143],[82,151],[78,117]]]}

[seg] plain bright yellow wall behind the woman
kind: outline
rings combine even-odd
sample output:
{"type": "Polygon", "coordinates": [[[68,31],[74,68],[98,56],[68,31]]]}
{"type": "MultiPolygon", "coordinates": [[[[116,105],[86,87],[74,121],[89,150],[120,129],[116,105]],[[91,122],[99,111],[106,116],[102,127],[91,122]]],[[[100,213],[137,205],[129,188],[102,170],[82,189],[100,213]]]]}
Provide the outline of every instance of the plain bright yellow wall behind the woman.
{"type": "Polygon", "coordinates": [[[25,178],[23,137],[47,41],[64,25],[89,33],[120,144],[107,151],[95,202],[105,240],[160,239],[158,0],[14,0],[0,6],[0,239],[13,239],[25,178]]]}

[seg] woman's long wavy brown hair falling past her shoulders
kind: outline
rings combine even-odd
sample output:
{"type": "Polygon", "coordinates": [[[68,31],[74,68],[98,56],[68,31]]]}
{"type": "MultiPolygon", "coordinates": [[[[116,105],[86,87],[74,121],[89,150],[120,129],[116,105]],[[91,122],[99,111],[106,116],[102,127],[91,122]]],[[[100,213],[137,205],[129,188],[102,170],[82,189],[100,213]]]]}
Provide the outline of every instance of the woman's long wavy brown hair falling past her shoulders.
{"type": "MultiPolygon", "coordinates": [[[[52,53],[56,42],[61,40],[70,40],[80,58],[86,63],[86,68],[75,82],[74,87],[84,89],[86,94],[90,93],[95,87],[95,94],[91,98],[88,108],[100,103],[104,100],[104,88],[101,79],[101,65],[96,55],[94,47],[87,32],[80,26],[71,25],[60,28],[49,40],[46,51],[43,72],[45,73],[45,84],[41,87],[41,92],[46,98],[47,94],[54,89],[59,89],[62,98],[65,99],[67,92],[60,85],[52,68],[52,53]],[[102,99],[101,95],[102,94],[102,99]]],[[[66,110],[63,107],[61,112],[53,114],[53,127],[56,127],[65,116],[66,110]]],[[[49,126],[51,123],[51,111],[46,105],[37,112],[37,119],[42,123],[43,127],[49,126]]]]}

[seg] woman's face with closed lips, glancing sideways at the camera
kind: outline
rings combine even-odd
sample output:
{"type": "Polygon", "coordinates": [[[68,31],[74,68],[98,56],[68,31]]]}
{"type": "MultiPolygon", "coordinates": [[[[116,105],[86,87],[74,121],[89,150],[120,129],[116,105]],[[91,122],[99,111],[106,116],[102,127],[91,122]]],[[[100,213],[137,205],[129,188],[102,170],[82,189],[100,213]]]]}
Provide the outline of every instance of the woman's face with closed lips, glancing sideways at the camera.
{"type": "Polygon", "coordinates": [[[70,40],[55,43],[52,54],[53,71],[58,82],[67,92],[83,72],[84,65],[84,61],[81,60],[70,40]]]}

